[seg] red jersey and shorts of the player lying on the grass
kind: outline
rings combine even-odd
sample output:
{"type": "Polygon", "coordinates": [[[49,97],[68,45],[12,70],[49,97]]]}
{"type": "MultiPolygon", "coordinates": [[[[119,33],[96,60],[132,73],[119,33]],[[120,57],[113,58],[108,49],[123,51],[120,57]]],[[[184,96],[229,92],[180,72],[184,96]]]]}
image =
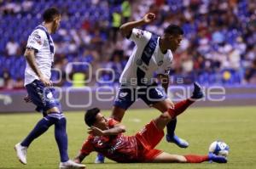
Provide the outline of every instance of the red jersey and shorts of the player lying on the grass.
{"type": "MultiPolygon", "coordinates": [[[[117,123],[113,119],[108,119],[109,128],[114,127],[117,123]]],[[[136,136],[125,136],[122,133],[113,136],[90,135],[85,140],[80,152],[83,155],[89,155],[90,152],[96,151],[117,162],[150,161],[154,156],[160,154],[161,151],[154,149],[154,146],[162,137],[163,132],[155,129],[154,123],[150,122],[136,136]]]]}

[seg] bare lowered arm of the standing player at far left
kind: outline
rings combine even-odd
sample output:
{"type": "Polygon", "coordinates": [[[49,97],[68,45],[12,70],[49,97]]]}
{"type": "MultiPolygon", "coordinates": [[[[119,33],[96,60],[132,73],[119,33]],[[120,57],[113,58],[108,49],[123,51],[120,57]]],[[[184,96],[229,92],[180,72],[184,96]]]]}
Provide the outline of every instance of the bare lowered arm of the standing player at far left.
{"type": "Polygon", "coordinates": [[[36,63],[36,57],[35,57],[35,49],[33,48],[26,48],[26,51],[25,51],[25,59],[28,63],[28,65],[30,65],[30,67],[32,68],[32,70],[36,73],[36,75],[39,77],[39,80],[41,82],[44,83],[45,86],[50,86],[51,85],[51,82],[46,79],[44,77],[44,75],[42,74],[42,72],[38,69],[38,65],[36,63]]]}

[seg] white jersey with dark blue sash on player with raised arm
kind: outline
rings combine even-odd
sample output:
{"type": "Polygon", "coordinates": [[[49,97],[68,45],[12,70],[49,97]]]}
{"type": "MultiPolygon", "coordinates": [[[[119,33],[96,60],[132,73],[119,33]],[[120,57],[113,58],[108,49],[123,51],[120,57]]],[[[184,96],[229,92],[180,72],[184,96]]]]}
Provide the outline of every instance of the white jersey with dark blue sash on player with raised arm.
{"type": "Polygon", "coordinates": [[[151,85],[154,83],[154,74],[169,75],[173,55],[171,50],[162,54],[159,46],[160,37],[134,28],[129,39],[136,43],[136,47],[120,76],[121,85],[151,85]]]}

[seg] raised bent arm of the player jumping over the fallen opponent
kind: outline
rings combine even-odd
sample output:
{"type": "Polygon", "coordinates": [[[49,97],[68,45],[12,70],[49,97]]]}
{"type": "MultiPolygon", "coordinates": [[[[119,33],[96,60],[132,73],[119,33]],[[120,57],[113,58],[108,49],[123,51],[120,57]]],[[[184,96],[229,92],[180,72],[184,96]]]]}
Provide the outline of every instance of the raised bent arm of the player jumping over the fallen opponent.
{"type": "Polygon", "coordinates": [[[121,25],[119,30],[124,37],[130,37],[131,31],[133,28],[151,23],[154,21],[154,19],[155,19],[155,14],[148,13],[143,17],[142,20],[131,21],[131,22],[125,23],[124,25],[121,25]]]}

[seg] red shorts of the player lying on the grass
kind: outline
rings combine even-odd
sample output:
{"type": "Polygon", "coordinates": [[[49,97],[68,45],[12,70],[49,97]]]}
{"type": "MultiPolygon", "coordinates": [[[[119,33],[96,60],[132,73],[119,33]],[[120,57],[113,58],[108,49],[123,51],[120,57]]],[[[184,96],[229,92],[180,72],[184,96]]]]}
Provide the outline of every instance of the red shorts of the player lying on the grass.
{"type": "Polygon", "coordinates": [[[159,130],[154,121],[148,123],[143,130],[137,132],[137,143],[141,144],[143,149],[139,149],[139,155],[143,156],[142,161],[152,161],[157,155],[160,155],[163,151],[154,149],[160,140],[164,137],[163,130],[159,130]]]}

